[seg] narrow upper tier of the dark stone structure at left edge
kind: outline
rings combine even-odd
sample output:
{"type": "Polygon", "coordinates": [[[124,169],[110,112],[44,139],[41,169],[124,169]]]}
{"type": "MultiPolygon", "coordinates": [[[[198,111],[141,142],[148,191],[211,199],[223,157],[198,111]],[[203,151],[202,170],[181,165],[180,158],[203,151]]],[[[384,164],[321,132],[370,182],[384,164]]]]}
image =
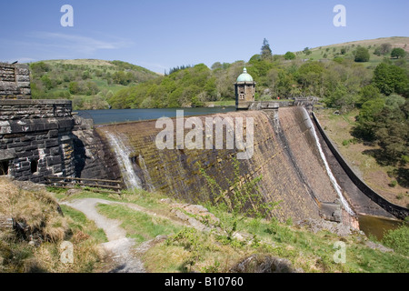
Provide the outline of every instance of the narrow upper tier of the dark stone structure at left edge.
{"type": "Polygon", "coordinates": [[[0,63],[0,99],[30,99],[28,65],[0,63]]]}

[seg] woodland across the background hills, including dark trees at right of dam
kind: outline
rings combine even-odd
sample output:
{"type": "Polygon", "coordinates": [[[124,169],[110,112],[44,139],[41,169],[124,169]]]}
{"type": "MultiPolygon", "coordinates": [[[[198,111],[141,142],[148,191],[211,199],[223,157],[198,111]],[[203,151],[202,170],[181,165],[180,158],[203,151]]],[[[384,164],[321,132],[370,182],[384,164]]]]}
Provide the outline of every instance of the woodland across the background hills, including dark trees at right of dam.
{"type": "MultiPolygon", "coordinates": [[[[389,43],[344,45],[274,55],[264,39],[248,62],[182,65],[157,75],[113,61],[89,65],[31,64],[34,98],[72,99],[75,109],[203,106],[234,100],[244,66],[256,100],[316,96],[340,113],[359,108],[354,136],[376,142],[388,162],[409,162],[409,65],[404,48],[389,43]]],[[[382,159],[382,157],[381,157],[382,159]]]]}

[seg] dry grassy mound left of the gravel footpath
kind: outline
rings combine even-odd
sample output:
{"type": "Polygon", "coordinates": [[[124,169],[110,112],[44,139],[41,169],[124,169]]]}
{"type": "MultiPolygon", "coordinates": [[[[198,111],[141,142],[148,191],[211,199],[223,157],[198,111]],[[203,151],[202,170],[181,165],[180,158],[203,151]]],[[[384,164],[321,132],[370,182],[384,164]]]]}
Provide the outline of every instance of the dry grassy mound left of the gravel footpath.
{"type": "Polygon", "coordinates": [[[59,210],[55,194],[45,186],[1,177],[0,217],[13,218],[21,227],[0,228],[0,272],[87,273],[102,264],[98,245],[106,241],[104,232],[81,212],[66,206],[59,210]],[[61,260],[63,242],[72,244],[73,263],[61,260]]]}

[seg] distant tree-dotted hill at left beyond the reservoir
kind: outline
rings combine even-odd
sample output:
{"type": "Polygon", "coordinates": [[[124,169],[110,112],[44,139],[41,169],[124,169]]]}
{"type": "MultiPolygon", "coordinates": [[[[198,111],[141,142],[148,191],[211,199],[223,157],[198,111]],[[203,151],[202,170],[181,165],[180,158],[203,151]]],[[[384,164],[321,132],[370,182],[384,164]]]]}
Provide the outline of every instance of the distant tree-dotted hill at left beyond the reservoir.
{"type": "Polygon", "coordinates": [[[122,61],[95,59],[46,60],[30,64],[35,99],[71,99],[77,109],[104,109],[108,98],[128,85],[159,75],[122,61]]]}

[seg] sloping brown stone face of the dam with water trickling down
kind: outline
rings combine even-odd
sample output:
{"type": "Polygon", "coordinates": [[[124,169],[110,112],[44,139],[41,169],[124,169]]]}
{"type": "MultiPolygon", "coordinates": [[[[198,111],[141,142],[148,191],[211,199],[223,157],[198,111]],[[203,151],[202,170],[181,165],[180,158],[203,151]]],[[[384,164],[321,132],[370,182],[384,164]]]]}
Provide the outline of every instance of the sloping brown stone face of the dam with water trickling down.
{"type": "MultiPolygon", "coordinates": [[[[345,185],[351,181],[338,179],[339,173],[333,173],[334,160],[304,107],[283,107],[278,115],[276,112],[272,115],[264,111],[238,111],[196,118],[205,125],[206,117],[215,116],[224,120],[253,118],[254,153],[249,159],[239,160],[241,180],[263,177],[259,186],[264,201],[280,201],[272,212],[276,218],[284,221],[326,216],[345,222],[357,215],[357,210],[365,213],[367,209],[370,209],[366,211],[368,214],[393,217],[366,196],[362,198],[362,193],[354,194],[360,197],[359,203],[354,196],[349,196],[345,185]]],[[[177,123],[175,118],[172,120],[177,123]]],[[[156,128],[155,123],[150,120],[97,127],[98,133],[109,141],[128,187],[161,191],[189,203],[212,200],[210,188],[200,173],[202,167],[208,176],[228,189],[229,181],[234,179],[232,160],[243,150],[228,149],[227,130],[223,149],[215,146],[189,149],[186,145],[180,146],[176,138],[172,140],[174,149],[159,149],[155,140],[163,128],[156,128]]],[[[247,137],[245,126],[244,140],[247,137]]],[[[205,126],[200,130],[203,130],[200,138],[205,145],[209,132],[205,126]]],[[[173,131],[177,136],[176,128],[173,131]]],[[[184,136],[189,134],[185,129],[184,136]]]]}

